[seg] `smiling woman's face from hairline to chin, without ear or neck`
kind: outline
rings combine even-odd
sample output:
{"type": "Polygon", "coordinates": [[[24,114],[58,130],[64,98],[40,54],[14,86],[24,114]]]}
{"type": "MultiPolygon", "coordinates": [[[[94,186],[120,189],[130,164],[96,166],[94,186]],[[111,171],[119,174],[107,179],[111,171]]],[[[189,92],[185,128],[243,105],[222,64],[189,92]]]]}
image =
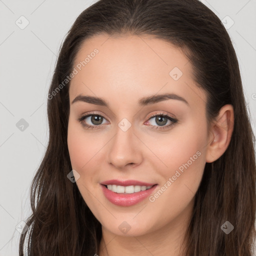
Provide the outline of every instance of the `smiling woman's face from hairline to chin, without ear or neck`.
{"type": "Polygon", "coordinates": [[[68,150],[77,187],[102,228],[142,235],[182,225],[209,141],[206,94],[188,59],[160,39],[96,35],[73,68],[68,150]]]}

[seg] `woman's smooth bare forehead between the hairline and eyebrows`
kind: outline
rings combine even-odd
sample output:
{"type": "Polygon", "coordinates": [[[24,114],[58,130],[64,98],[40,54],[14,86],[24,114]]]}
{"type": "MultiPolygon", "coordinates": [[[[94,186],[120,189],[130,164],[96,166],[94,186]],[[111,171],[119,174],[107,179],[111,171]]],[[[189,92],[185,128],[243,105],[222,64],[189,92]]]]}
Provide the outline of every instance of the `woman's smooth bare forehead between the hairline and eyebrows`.
{"type": "Polygon", "coordinates": [[[187,101],[205,101],[181,49],[149,35],[94,35],[81,44],[73,67],[77,74],[70,82],[70,100],[95,94],[125,95],[123,100],[129,101],[136,95],[173,92],[187,101]]]}

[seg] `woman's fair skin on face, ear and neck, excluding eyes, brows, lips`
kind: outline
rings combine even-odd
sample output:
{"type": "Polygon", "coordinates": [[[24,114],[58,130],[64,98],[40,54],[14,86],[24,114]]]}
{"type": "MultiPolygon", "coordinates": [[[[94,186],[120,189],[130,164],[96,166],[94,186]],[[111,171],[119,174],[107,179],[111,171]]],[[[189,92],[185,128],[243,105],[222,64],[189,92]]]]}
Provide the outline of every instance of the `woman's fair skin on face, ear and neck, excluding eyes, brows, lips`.
{"type": "MultiPolygon", "coordinates": [[[[188,59],[163,40],[95,35],[81,45],[74,67],[94,48],[99,52],[70,82],[67,143],[72,169],[80,175],[77,187],[102,225],[99,255],[181,255],[205,162],[216,160],[227,148],[233,108],[224,105],[208,131],[205,91],[192,80],[188,59]],[[175,66],[183,73],[178,80],[169,75],[175,66]],[[141,97],[165,92],[188,104],[177,99],[143,107],[137,103],[141,97]],[[109,107],[71,103],[79,94],[102,97],[109,107]],[[87,129],[77,120],[90,111],[103,117],[100,128],[87,129]],[[149,115],[161,111],[178,122],[166,127],[172,123],[168,120],[166,129],[156,129],[160,125],[149,115]],[[131,124],[125,132],[118,126],[123,118],[131,124]],[[102,193],[99,183],[107,179],[136,179],[160,188],[198,151],[197,159],[153,202],[146,198],[132,206],[117,206],[102,193]],[[130,226],[126,233],[118,228],[123,221],[130,226]]],[[[83,121],[97,125],[90,117],[83,121]]]]}

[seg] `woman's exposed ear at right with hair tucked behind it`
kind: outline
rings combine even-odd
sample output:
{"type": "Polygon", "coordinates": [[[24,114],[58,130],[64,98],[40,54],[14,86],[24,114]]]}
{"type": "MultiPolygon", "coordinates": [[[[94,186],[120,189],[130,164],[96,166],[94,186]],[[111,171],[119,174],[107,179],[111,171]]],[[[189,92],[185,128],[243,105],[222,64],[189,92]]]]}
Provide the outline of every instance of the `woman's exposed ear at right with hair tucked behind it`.
{"type": "Polygon", "coordinates": [[[233,106],[226,104],[220,108],[218,116],[211,124],[205,155],[206,162],[215,161],[225,152],[231,139],[233,123],[233,106]]]}

